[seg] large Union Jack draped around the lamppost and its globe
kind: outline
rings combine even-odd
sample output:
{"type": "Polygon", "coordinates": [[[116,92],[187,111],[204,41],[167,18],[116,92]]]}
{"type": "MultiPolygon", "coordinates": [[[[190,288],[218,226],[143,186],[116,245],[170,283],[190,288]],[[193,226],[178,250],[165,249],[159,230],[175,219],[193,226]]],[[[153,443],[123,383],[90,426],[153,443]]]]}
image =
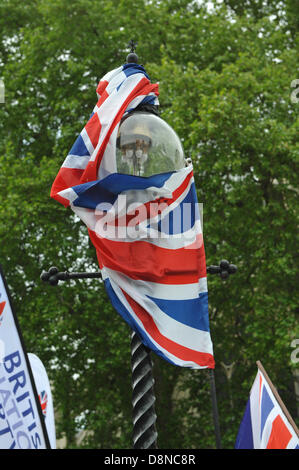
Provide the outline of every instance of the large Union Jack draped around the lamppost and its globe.
{"type": "Polygon", "coordinates": [[[107,293],[143,343],[183,367],[214,368],[205,252],[193,168],[117,173],[120,120],[158,104],[158,85],[126,64],[100,81],[99,101],[51,196],[87,225],[107,293]]]}

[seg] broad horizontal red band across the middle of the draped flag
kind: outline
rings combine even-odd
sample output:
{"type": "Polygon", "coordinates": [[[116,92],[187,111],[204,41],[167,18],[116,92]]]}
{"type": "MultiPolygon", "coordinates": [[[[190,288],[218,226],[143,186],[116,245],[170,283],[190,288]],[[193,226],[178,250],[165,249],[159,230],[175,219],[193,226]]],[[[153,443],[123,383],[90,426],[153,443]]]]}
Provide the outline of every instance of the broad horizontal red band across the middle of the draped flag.
{"type": "Polygon", "coordinates": [[[120,242],[89,236],[107,268],[126,274],[132,279],[161,284],[192,284],[206,277],[204,245],[196,250],[170,250],[146,241],[120,242]]]}

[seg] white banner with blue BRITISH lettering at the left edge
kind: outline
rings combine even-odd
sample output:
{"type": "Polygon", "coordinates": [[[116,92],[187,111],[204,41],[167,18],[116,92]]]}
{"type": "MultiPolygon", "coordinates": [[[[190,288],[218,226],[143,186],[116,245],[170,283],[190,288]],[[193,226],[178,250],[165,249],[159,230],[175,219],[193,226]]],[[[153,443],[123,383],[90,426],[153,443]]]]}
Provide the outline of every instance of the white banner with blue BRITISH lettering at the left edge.
{"type": "Polygon", "coordinates": [[[0,266],[0,449],[47,449],[49,438],[0,266]]]}

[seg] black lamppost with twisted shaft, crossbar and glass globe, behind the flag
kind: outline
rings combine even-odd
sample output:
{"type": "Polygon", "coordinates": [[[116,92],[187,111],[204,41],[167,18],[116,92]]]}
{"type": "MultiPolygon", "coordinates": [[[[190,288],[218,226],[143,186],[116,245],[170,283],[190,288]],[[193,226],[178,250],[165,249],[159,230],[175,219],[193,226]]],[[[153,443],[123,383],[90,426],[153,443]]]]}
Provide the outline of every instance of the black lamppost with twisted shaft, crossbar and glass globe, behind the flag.
{"type": "MultiPolygon", "coordinates": [[[[127,63],[138,63],[134,42],[127,63]]],[[[150,102],[137,106],[125,116],[119,125],[116,141],[117,172],[135,176],[152,176],[180,170],[185,166],[183,147],[175,131],[159,117],[157,106],[150,102]]],[[[236,272],[227,261],[210,266],[207,272],[220,274],[222,279],[236,272]]],[[[68,279],[98,278],[96,273],[59,272],[52,267],[41,274],[41,279],[51,285],[68,279]]],[[[133,447],[134,449],[157,448],[154,378],[150,350],[138,334],[131,335],[133,447]]],[[[217,447],[220,448],[220,432],[213,371],[211,370],[211,393],[217,447]]]]}

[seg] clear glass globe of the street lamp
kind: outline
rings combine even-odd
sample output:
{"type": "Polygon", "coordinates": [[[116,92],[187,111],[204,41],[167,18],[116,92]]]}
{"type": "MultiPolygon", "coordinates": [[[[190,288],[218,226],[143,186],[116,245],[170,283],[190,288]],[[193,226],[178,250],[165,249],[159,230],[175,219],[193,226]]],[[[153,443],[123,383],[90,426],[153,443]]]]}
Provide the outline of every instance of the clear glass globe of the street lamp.
{"type": "Polygon", "coordinates": [[[137,176],[180,170],[184,151],[175,131],[155,114],[135,111],[119,126],[117,172],[137,176]]]}

